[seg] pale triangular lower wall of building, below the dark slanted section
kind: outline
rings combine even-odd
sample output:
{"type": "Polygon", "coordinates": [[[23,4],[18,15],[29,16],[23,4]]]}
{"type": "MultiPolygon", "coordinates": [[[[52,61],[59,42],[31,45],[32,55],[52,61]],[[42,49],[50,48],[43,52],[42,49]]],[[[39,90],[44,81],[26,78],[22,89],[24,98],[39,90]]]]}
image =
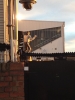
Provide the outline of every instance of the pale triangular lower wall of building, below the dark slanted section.
{"type": "Polygon", "coordinates": [[[42,46],[41,48],[33,51],[34,53],[63,53],[62,37],[42,46]]]}

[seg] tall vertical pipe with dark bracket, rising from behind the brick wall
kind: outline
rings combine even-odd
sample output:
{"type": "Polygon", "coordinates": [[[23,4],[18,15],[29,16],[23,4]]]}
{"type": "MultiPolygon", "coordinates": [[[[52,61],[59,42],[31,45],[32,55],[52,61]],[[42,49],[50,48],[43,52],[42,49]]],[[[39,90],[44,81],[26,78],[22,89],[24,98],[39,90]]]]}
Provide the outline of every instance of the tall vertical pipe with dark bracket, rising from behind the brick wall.
{"type": "Polygon", "coordinates": [[[10,45],[11,45],[11,61],[14,62],[14,50],[13,50],[13,0],[8,0],[8,32],[10,35],[10,45]]]}

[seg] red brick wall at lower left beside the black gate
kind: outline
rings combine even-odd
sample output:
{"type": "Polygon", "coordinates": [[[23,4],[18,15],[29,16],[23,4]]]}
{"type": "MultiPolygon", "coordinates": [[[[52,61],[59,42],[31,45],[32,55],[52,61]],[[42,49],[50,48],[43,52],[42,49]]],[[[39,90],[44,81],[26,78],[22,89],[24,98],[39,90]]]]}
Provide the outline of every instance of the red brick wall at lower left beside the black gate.
{"type": "Polygon", "coordinates": [[[24,100],[24,63],[0,64],[0,100],[24,100]]]}

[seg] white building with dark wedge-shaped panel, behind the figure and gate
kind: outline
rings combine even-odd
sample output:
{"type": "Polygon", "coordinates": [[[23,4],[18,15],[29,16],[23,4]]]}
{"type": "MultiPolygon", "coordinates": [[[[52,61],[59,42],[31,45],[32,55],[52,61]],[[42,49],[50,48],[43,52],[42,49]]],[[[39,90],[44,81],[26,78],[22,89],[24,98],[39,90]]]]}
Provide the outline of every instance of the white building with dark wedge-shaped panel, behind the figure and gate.
{"type": "Polygon", "coordinates": [[[65,23],[59,21],[21,20],[18,22],[19,46],[23,42],[22,32],[30,31],[32,37],[37,35],[31,42],[32,52],[63,53],[65,52],[64,27],[65,23]]]}

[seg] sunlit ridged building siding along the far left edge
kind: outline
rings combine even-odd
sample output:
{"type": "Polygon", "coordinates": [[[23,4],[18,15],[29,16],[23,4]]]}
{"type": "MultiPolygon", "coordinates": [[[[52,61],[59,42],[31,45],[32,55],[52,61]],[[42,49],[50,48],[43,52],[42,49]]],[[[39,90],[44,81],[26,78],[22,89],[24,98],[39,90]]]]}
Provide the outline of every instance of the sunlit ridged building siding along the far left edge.
{"type": "MultiPolygon", "coordinates": [[[[0,43],[8,43],[8,2],[7,0],[0,0],[0,43]]],[[[6,52],[0,52],[0,61],[6,61],[8,57],[6,52]]]]}

